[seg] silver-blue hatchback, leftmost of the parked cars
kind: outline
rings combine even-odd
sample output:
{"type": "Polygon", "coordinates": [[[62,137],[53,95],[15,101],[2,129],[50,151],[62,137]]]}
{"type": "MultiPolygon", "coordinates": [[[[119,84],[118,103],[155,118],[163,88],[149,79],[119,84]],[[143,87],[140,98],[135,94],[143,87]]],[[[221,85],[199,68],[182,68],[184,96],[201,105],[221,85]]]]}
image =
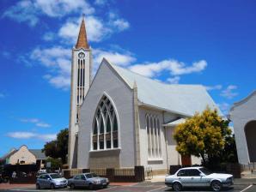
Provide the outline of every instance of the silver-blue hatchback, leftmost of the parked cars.
{"type": "Polygon", "coordinates": [[[57,173],[46,173],[40,175],[36,180],[36,189],[43,188],[66,188],[68,180],[57,173]]]}

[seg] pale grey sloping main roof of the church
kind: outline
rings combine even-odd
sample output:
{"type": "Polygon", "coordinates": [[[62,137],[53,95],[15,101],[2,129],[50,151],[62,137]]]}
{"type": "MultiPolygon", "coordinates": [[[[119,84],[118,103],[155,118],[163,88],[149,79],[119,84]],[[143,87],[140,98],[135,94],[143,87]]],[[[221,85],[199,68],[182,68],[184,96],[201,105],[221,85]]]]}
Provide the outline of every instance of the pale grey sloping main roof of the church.
{"type": "Polygon", "coordinates": [[[188,117],[197,111],[204,111],[209,105],[211,109],[216,108],[222,115],[202,85],[166,84],[121,68],[109,63],[106,59],[103,59],[103,63],[112,66],[129,87],[133,88],[136,82],[137,97],[142,105],[154,106],[163,111],[172,111],[188,117]]]}

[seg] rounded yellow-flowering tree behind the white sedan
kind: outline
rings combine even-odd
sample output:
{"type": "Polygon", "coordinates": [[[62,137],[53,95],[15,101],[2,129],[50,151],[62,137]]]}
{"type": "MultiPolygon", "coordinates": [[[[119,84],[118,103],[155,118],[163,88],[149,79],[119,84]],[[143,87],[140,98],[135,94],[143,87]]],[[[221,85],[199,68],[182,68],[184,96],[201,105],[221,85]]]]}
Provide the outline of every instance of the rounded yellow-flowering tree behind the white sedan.
{"type": "Polygon", "coordinates": [[[229,121],[209,107],[180,123],[174,131],[176,150],[181,155],[201,157],[204,165],[207,159],[220,157],[230,135],[229,121]]]}

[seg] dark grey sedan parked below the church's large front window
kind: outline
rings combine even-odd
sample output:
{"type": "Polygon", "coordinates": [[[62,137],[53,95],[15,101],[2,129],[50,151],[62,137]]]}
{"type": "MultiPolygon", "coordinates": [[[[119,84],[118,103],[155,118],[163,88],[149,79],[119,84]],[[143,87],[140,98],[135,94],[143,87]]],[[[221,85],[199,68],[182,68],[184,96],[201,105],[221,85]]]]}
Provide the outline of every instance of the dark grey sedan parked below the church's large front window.
{"type": "Polygon", "coordinates": [[[98,177],[94,173],[82,173],[68,180],[68,185],[71,189],[77,187],[88,187],[89,189],[107,188],[108,184],[108,178],[98,177]]]}

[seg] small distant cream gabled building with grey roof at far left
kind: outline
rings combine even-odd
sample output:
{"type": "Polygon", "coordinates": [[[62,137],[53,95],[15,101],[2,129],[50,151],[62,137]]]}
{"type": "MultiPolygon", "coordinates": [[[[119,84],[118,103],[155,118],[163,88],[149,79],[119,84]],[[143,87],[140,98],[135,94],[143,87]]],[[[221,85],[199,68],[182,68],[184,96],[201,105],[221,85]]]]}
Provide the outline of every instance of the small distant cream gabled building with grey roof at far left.
{"type": "Polygon", "coordinates": [[[41,149],[28,149],[25,145],[21,146],[18,150],[12,149],[0,159],[2,165],[37,164],[40,168],[44,167],[45,161],[46,155],[41,152],[41,149]]]}

